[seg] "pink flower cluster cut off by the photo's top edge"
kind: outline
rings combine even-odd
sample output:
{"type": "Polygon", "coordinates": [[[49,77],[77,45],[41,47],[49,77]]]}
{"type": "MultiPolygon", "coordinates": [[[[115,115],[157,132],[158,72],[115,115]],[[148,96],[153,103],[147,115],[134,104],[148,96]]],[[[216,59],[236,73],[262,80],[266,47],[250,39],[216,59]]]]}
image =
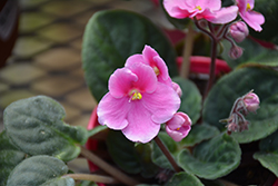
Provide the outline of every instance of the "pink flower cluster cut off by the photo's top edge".
{"type": "Polygon", "coordinates": [[[166,11],[173,18],[206,19],[212,23],[228,23],[237,14],[256,31],[261,31],[262,14],[252,11],[255,0],[236,0],[235,6],[221,8],[221,0],[165,0],[166,11]]]}

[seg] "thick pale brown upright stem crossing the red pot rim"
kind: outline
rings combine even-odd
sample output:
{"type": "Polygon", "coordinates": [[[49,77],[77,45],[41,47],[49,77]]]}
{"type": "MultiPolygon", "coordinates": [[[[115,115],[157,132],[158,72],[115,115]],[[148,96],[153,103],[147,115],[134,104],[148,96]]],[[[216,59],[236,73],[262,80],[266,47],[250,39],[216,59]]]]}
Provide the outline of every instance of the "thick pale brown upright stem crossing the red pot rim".
{"type": "Polygon", "coordinates": [[[193,50],[193,36],[195,36],[195,31],[192,29],[192,26],[189,25],[187,36],[185,39],[183,52],[182,52],[182,63],[180,68],[181,78],[188,78],[189,76],[190,56],[192,55],[192,50],[193,50]]]}

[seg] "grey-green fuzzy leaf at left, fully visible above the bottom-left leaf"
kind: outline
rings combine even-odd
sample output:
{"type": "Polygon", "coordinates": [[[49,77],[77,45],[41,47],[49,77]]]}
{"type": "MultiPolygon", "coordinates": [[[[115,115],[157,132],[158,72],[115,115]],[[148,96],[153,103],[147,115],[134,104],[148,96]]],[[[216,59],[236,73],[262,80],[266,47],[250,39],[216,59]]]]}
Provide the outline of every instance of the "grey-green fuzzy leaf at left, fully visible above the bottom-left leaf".
{"type": "Polygon", "coordinates": [[[87,130],[63,123],[64,109],[46,96],[12,102],[4,109],[3,124],[9,138],[29,155],[50,155],[64,161],[80,153],[87,130]]]}

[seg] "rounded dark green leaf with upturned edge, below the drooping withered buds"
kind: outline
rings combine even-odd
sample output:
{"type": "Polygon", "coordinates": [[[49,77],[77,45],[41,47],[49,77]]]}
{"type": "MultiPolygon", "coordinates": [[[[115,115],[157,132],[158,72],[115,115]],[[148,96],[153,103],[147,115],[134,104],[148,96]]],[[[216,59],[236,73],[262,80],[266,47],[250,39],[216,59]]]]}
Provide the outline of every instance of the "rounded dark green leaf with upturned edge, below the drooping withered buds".
{"type": "Polygon", "coordinates": [[[206,179],[216,179],[236,169],[240,163],[241,150],[237,141],[221,134],[193,148],[192,154],[183,149],[178,163],[187,173],[206,179]]]}

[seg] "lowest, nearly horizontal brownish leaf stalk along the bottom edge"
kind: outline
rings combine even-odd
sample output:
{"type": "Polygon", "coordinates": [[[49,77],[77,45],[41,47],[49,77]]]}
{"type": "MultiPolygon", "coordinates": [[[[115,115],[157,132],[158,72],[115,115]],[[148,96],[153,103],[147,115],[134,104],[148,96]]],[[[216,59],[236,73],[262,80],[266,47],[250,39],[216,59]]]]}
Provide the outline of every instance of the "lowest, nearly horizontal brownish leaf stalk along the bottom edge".
{"type": "Polygon", "coordinates": [[[119,182],[109,176],[100,176],[100,175],[90,175],[90,174],[67,174],[62,177],[71,177],[75,180],[90,180],[95,183],[102,184],[119,184],[119,182]]]}

